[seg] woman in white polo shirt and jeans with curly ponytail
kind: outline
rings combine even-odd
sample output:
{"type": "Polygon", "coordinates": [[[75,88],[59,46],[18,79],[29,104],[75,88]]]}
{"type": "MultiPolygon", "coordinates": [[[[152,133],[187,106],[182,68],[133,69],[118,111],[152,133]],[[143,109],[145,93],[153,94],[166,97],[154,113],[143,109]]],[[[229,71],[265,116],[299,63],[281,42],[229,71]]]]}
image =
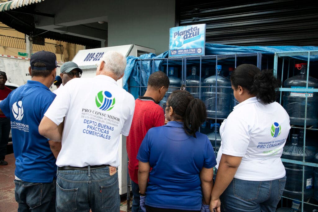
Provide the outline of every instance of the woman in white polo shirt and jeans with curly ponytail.
{"type": "Polygon", "coordinates": [[[250,64],[239,65],[231,82],[240,103],[220,127],[210,210],[221,204],[224,211],[275,211],[286,182],[280,156],[290,130],[287,112],[275,102],[279,82],[250,64]]]}

